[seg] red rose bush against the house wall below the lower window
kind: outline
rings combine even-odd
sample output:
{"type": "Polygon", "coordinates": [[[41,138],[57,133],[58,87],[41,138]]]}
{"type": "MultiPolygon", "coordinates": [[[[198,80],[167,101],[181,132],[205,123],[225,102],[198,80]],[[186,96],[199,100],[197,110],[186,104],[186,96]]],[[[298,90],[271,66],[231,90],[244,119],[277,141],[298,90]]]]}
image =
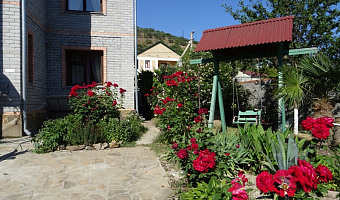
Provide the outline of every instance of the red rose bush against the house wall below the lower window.
{"type": "Polygon", "coordinates": [[[97,123],[102,119],[119,118],[123,108],[124,93],[116,83],[107,82],[99,88],[95,82],[88,85],[75,85],[69,94],[69,105],[74,114],[84,123],[97,123]],[[119,93],[119,94],[118,94],[119,93]]]}

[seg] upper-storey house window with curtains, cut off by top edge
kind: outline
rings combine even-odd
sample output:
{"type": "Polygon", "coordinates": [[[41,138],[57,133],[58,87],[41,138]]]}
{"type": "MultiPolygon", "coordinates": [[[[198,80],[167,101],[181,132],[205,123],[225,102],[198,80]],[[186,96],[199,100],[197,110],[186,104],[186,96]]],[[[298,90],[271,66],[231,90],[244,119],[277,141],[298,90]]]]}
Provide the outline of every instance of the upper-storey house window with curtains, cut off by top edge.
{"type": "Polygon", "coordinates": [[[102,0],[67,0],[67,10],[101,12],[102,0]]]}

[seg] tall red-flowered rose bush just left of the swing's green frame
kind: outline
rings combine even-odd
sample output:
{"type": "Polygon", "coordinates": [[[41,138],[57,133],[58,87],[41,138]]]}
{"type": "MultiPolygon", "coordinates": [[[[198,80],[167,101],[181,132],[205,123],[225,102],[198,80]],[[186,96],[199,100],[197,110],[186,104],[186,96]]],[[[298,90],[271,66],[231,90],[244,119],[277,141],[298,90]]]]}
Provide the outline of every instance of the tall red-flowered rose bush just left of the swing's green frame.
{"type": "MultiPolygon", "coordinates": [[[[177,71],[169,76],[163,76],[163,83],[154,81],[150,93],[146,93],[148,102],[158,118],[157,125],[162,139],[167,142],[179,140],[182,136],[189,139],[199,126],[204,126],[207,109],[198,109],[196,77],[183,71],[177,71]],[[190,129],[188,127],[195,127],[190,129]]],[[[201,130],[203,127],[201,127],[201,130]]]]}

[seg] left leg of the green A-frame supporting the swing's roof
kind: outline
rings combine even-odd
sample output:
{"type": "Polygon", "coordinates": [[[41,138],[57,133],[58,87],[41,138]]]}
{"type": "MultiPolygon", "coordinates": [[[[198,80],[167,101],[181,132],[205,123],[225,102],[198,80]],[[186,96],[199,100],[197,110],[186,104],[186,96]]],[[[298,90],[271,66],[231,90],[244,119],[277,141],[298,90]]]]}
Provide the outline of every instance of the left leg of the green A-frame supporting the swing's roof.
{"type": "Polygon", "coordinates": [[[218,68],[219,68],[219,63],[220,63],[218,59],[216,58],[215,53],[213,53],[213,56],[214,56],[215,74],[214,74],[214,79],[213,79],[213,89],[211,93],[208,128],[213,128],[214,126],[216,93],[217,93],[217,85],[218,85],[218,68]]]}

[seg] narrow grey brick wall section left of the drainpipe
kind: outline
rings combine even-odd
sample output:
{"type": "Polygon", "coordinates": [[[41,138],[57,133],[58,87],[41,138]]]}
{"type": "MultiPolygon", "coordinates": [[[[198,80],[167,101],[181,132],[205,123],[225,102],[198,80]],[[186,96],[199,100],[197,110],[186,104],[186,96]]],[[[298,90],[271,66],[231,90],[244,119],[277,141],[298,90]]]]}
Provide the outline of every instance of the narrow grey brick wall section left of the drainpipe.
{"type": "Polygon", "coordinates": [[[21,17],[20,0],[0,4],[0,88],[8,95],[0,96],[0,137],[20,137],[21,126],[21,17]],[[7,92],[6,92],[7,94],[7,92]],[[17,120],[19,118],[19,120],[17,120]]]}

